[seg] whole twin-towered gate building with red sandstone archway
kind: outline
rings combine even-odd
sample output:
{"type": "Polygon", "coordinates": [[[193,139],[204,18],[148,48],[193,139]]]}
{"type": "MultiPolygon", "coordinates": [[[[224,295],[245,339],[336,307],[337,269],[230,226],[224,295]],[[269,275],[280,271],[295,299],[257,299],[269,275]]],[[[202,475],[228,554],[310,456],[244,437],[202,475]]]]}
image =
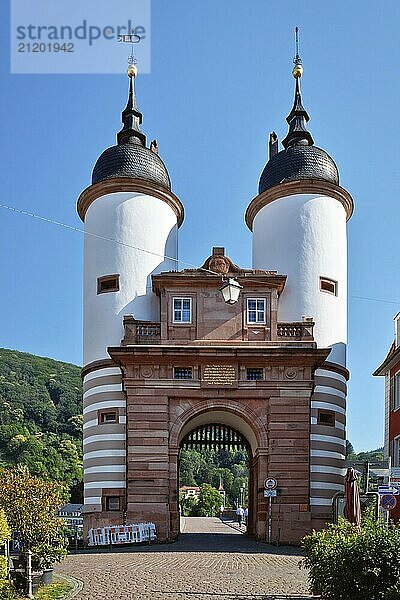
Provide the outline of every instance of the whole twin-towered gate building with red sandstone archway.
{"type": "Polygon", "coordinates": [[[189,442],[249,456],[250,533],[265,539],[264,480],[278,480],[274,536],[298,541],[343,490],[347,242],[353,202],[314,145],[295,99],[279,151],[270,136],[246,211],[253,265],[221,247],[176,271],[183,206],[141,132],[135,72],[117,145],[78,200],[84,248],[86,527],[154,521],[179,534],[178,463],[189,442]],[[224,302],[223,281],[240,285],[224,302]]]}

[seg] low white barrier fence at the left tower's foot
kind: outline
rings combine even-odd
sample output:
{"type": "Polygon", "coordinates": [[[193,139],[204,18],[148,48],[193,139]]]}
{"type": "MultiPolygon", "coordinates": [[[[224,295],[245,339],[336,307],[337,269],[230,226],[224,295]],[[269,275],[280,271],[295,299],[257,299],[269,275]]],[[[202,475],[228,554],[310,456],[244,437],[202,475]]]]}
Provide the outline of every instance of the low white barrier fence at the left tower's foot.
{"type": "Polygon", "coordinates": [[[152,542],[156,539],[154,523],[133,525],[110,525],[89,529],[89,546],[109,546],[110,544],[134,544],[152,542]]]}

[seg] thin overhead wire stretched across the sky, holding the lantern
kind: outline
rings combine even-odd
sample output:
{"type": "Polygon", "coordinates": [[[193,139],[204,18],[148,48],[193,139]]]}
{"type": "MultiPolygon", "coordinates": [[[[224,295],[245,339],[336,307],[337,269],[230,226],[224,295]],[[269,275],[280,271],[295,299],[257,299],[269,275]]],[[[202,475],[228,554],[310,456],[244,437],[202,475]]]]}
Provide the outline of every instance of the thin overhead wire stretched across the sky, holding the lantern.
{"type": "MultiPolygon", "coordinates": [[[[207,273],[211,273],[212,275],[220,276],[221,273],[216,273],[215,271],[211,271],[210,269],[205,269],[204,267],[198,267],[188,261],[181,260],[179,258],[174,258],[172,256],[167,256],[165,254],[159,254],[158,252],[153,252],[152,250],[146,250],[145,248],[140,248],[139,246],[133,246],[132,244],[127,244],[126,242],[121,242],[116,240],[115,238],[110,238],[104,235],[100,235],[98,233],[93,233],[91,231],[85,231],[84,229],[80,229],[79,227],[74,227],[73,225],[67,225],[66,223],[62,223],[61,221],[56,221],[55,219],[49,219],[48,217],[42,217],[41,215],[36,215],[35,213],[31,213],[27,210],[23,210],[21,208],[15,208],[15,206],[8,206],[7,204],[0,204],[0,208],[4,208],[5,210],[9,210],[13,213],[23,215],[25,217],[31,217],[32,219],[37,219],[39,221],[44,221],[45,223],[50,223],[51,225],[58,225],[59,227],[63,227],[64,229],[69,229],[71,231],[76,231],[77,233],[81,233],[83,235],[88,235],[91,237],[98,238],[100,240],[105,240],[107,242],[111,242],[113,244],[118,244],[120,246],[125,246],[126,248],[132,248],[133,250],[138,250],[139,252],[145,252],[146,254],[151,254],[152,256],[157,256],[158,258],[163,258],[164,260],[172,260],[175,263],[180,263],[182,265],[186,265],[193,269],[197,269],[200,271],[206,271],[207,273]]],[[[386,300],[384,298],[369,298],[367,296],[354,296],[349,294],[349,298],[356,300],[366,300],[368,302],[383,302],[384,304],[395,304],[397,306],[400,305],[400,300],[386,300]]]]}

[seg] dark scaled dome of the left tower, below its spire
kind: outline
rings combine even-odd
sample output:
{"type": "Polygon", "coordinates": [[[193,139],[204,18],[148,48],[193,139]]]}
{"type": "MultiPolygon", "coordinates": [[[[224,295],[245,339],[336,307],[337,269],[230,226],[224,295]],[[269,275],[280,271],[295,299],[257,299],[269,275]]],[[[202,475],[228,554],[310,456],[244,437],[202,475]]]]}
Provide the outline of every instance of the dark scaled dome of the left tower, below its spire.
{"type": "Polygon", "coordinates": [[[116,177],[144,179],[171,189],[171,181],[161,158],[140,143],[123,143],[107,148],[97,159],[92,183],[116,177]]]}

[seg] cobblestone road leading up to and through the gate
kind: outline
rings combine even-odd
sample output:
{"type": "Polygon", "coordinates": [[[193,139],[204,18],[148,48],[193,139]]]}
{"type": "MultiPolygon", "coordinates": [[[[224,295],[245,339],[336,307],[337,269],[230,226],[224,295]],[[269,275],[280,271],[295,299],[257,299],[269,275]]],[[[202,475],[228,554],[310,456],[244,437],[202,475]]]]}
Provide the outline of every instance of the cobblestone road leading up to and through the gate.
{"type": "Polygon", "coordinates": [[[292,548],[256,543],[216,518],[187,518],[174,544],[71,555],[58,568],[84,582],[77,600],[304,598],[292,548]]]}

